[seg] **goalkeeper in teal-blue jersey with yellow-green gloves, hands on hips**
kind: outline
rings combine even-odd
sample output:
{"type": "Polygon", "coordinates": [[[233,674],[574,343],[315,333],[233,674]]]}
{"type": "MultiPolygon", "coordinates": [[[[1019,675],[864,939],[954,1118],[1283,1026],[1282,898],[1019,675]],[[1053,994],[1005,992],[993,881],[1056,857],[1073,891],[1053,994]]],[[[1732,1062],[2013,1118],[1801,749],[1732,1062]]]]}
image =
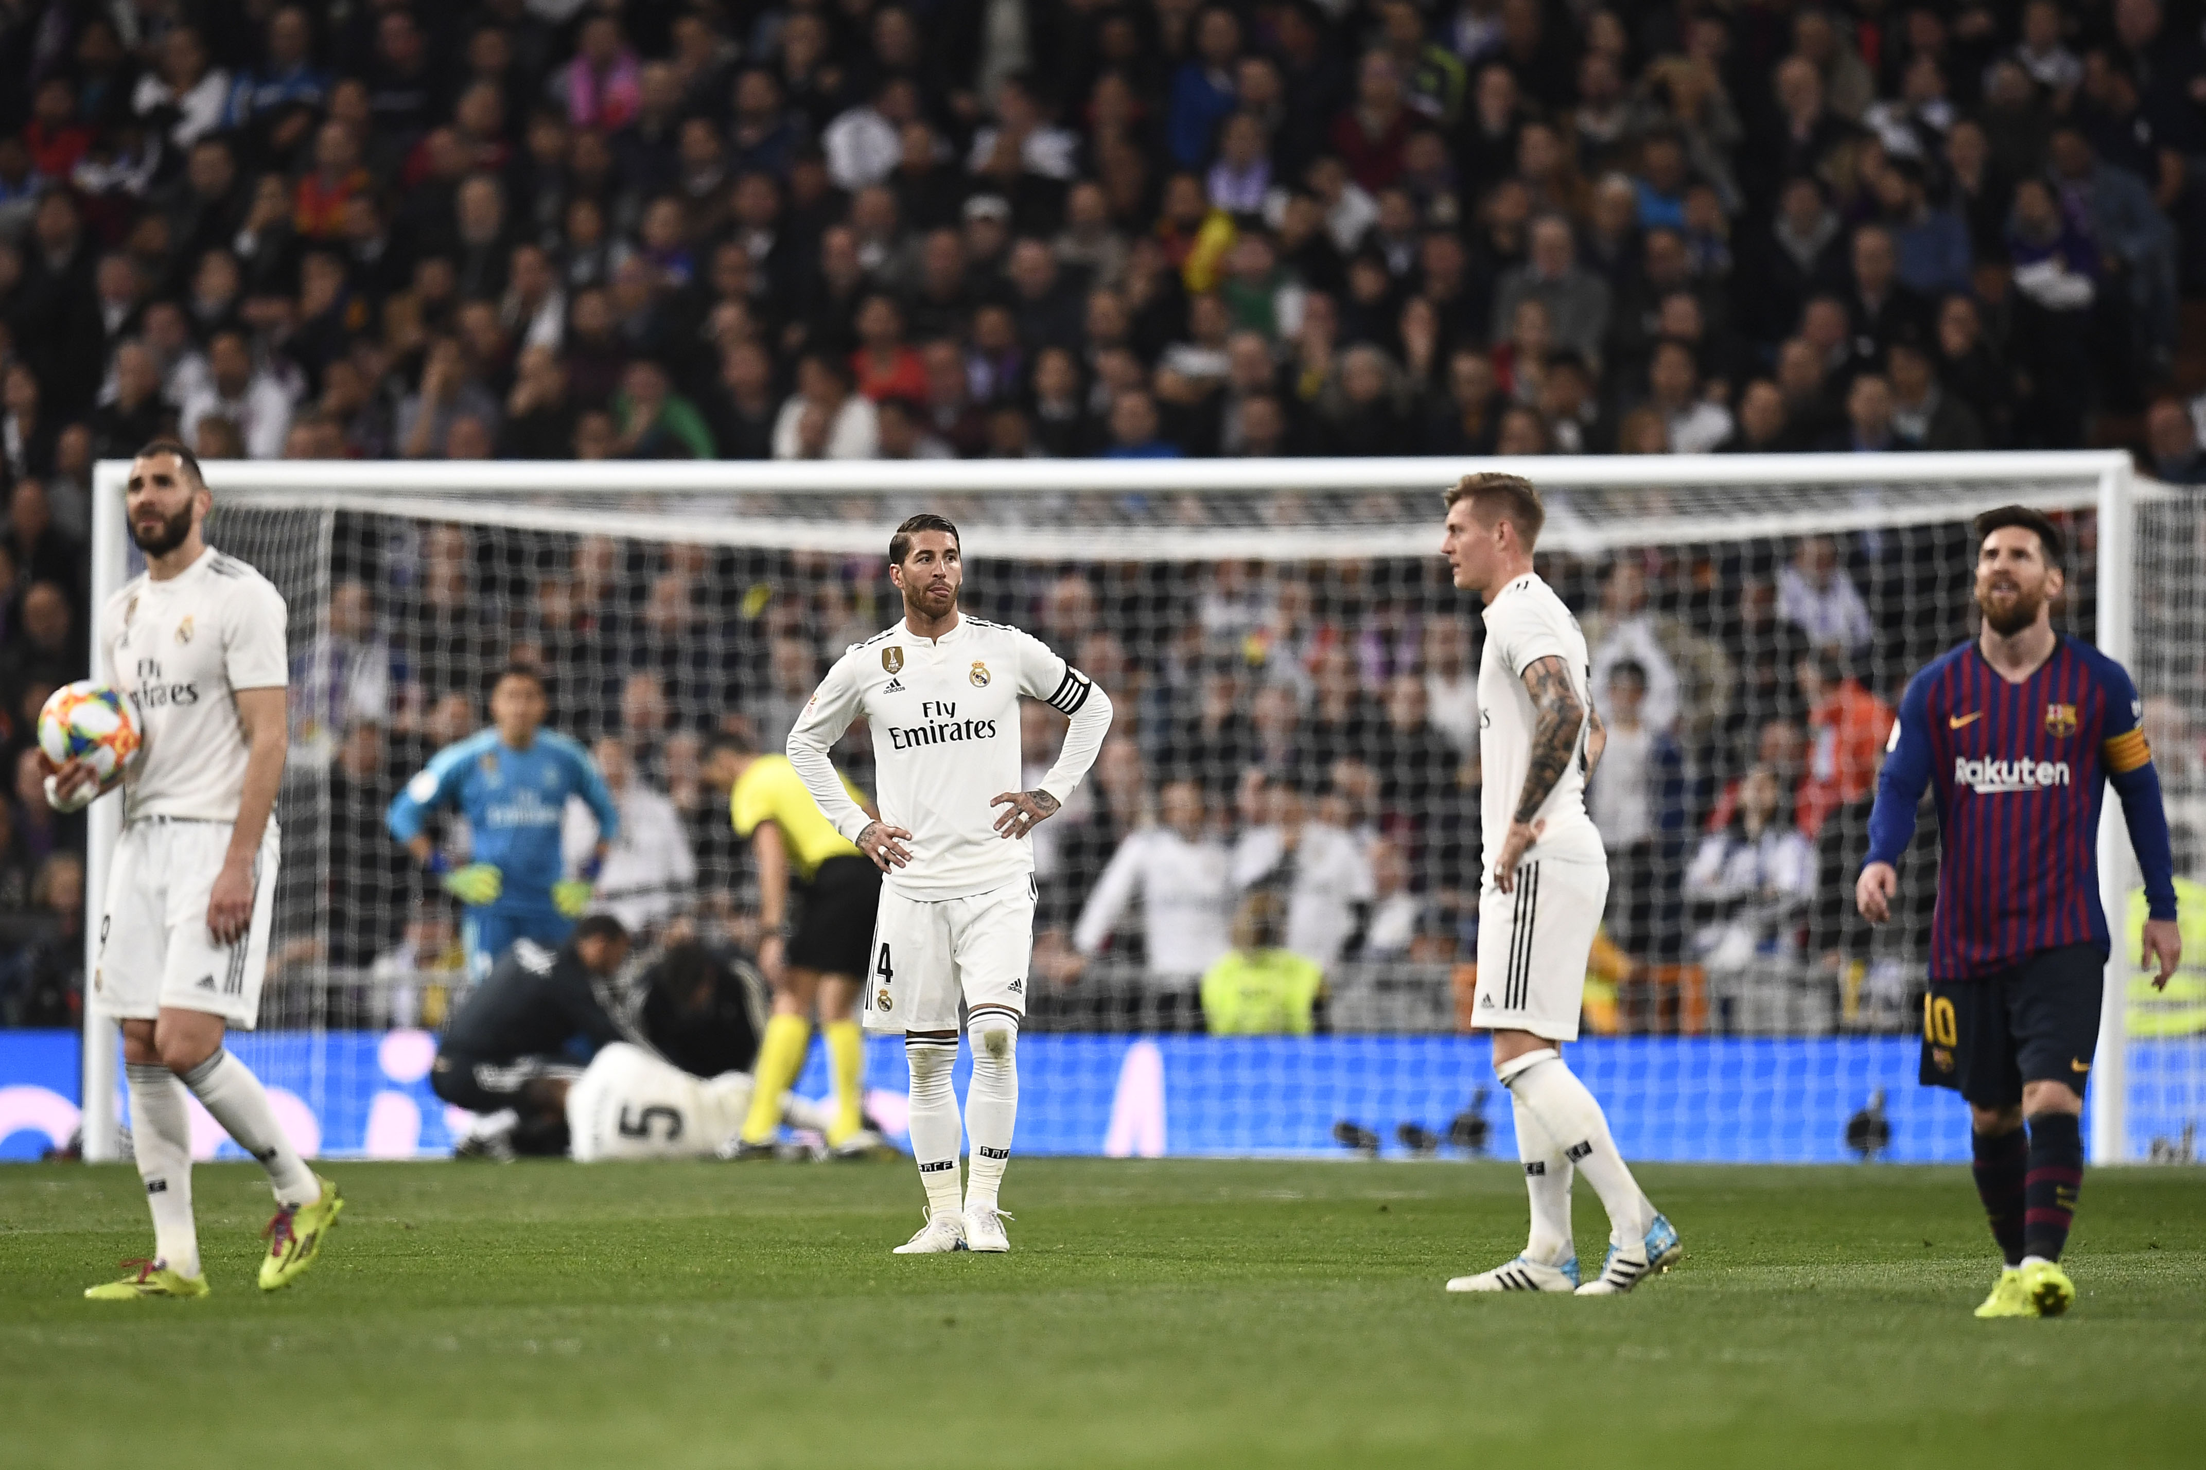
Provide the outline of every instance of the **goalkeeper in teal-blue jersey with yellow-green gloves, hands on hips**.
{"type": "Polygon", "coordinates": [[[543,729],[545,685],[507,668],[490,690],[492,727],[446,745],[390,802],[390,835],[443,890],[465,904],[468,976],[481,981],[516,939],[567,941],[589,908],[598,866],[620,835],[620,811],[589,752],[543,729]],[[563,877],[560,818],[580,796],[598,818],[598,846],[578,879],[563,877]],[[452,866],[424,831],[428,813],[457,807],[474,833],[465,866],[452,866]]]}

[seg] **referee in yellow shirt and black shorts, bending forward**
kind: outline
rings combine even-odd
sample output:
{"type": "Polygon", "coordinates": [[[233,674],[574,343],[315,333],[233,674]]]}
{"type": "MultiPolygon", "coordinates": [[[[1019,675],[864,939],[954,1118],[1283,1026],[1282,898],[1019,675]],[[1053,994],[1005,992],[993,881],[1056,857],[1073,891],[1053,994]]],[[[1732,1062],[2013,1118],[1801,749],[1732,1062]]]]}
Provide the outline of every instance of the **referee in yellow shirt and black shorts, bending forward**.
{"type": "MultiPolygon", "coordinates": [[[[880,868],[821,815],[788,756],[761,756],[743,738],[721,741],[732,754],[728,815],[737,837],[750,837],[759,864],[759,970],[774,987],[774,1014],[759,1042],[757,1091],[737,1157],[772,1157],[781,1100],[805,1067],[812,1007],[818,1005],[827,1069],[834,1076],[834,1122],[827,1148],[865,1157],[885,1148],[865,1126],[865,1040],[854,1018],[880,906],[880,868]],[[801,895],[790,921],[790,890],[801,895]]],[[[874,811],[858,787],[852,798],[874,811]]]]}

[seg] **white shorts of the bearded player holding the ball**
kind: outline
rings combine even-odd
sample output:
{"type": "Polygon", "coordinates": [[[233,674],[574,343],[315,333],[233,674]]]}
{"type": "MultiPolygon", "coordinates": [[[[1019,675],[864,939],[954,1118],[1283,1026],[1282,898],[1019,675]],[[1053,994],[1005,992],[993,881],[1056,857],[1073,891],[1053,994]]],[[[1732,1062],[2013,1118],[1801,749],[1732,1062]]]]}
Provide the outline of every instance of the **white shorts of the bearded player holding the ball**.
{"type": "Polygon", "coordinates": [[[229,822],[139,818],[108,864],[93,1005],[117,1020],[154,1020],[161,1007],[207,1012],[240,1031],[260,1020],[260,981],[276,917],[276,824],[254,857],[254,921],[238,943],[214,943],[207,897],[229,851],[229,822]]]}

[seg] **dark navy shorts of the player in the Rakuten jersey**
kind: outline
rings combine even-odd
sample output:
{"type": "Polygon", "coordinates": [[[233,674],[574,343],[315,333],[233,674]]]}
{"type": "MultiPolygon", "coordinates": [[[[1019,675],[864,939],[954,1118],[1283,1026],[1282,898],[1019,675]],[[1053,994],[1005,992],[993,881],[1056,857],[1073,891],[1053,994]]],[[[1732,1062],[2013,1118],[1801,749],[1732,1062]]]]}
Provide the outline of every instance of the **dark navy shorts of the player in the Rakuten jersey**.
{"type": "Polygon", "coordinates": [[[1924,1087],[1950,1087],[1979,1109],[2012,1109],[2023,1082],[2065,1082],[2082,1095],[2105,987],[2107,956],[2096,943],[2038,950],[1970,981],[1930,981],[1924,1087]]]}

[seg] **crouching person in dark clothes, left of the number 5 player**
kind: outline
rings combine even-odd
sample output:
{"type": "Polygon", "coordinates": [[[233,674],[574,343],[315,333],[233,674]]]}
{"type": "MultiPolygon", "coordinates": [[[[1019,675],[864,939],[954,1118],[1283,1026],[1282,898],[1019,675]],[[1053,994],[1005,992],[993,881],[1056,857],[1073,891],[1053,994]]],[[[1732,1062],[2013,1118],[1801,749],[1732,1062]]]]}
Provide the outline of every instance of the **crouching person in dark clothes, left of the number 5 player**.
{"type": "Polygon", "coordinates": [[[428,1073],[439,1098],[476,1115],[457,1153],[567,1153],[567,1087],[598,1047],[627,1038],[613,992],[627,959],[620,919],[589,915],[556,950],[514,941],[461,998],[428,1073]]]}

